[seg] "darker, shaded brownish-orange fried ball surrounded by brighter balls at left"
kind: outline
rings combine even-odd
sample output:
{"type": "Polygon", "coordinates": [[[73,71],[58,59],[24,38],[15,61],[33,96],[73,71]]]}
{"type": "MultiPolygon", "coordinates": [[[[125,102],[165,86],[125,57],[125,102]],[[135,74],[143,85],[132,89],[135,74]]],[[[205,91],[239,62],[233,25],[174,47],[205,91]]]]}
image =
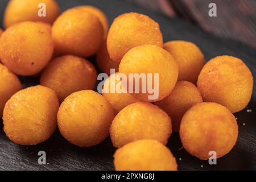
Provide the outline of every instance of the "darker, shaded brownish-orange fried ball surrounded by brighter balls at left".
{"type": "Polygon", "coordinates": [[[71,93],[94,89],[96,81],[97,72],[93,64],[72,55],[53,59],[40,77],[40,84],[55,90],[60,102],[71,93]]]}

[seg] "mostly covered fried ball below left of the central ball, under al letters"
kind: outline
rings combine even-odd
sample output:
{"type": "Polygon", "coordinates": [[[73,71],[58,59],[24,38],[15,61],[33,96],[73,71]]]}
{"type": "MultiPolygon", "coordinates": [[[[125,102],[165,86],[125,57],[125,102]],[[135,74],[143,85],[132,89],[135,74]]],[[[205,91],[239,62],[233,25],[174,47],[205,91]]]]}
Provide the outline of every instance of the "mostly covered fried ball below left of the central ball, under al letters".
{"type": "Polygon", "coordinates": [[[112,105],[115,113],[119,113],[127,105],[138,102],[131,94],[121,93],[122,89],[125,87],[123,87],[118,73],[111,75],[104,83],[103,96],[112,105]]]}

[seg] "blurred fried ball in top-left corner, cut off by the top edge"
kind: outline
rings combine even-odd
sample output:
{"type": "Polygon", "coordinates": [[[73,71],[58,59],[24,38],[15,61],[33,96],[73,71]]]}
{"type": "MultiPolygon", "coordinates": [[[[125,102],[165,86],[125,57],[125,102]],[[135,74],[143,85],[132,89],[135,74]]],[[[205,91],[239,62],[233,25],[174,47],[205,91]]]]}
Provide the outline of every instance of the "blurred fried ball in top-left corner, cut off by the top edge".
{"type": "Polygon", "coordinates": [[[6,7],[3,24],[6,28],[25,21],[52,24],[58,15],[59,5],[54,0],[11,0],[6,7]],[[46,9],[40,3],[44,3],[46,9]],[[40,9],[45,10],[46,16],[39,16],[39,13],[43,13],[40,9]]]}

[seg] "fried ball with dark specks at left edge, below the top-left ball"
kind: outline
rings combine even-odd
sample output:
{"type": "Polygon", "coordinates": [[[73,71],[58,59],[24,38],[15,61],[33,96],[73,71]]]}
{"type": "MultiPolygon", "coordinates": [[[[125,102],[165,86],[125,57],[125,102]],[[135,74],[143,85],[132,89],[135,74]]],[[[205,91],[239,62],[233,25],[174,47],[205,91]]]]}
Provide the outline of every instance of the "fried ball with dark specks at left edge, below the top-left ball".
{"type": "Polygon", "coordinates": [[[48,27],[35,22],[14,24],[0,38],[3,64],[17,75],[36,75],[51,60],[53,41],[48,27]]]}

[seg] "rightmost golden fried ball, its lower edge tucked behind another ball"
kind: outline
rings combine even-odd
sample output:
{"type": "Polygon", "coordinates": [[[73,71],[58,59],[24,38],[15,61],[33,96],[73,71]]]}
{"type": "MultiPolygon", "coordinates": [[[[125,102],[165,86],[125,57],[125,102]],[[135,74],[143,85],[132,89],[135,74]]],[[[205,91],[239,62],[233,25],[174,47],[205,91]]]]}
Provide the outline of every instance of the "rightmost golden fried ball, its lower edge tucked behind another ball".
{"type": "Polygon", "coordinates": [[[253,76],[241,59],[218,56],[204,66],[197,86],[205,102],[216,102],[236,113],[250,102],[253,76]]]}

